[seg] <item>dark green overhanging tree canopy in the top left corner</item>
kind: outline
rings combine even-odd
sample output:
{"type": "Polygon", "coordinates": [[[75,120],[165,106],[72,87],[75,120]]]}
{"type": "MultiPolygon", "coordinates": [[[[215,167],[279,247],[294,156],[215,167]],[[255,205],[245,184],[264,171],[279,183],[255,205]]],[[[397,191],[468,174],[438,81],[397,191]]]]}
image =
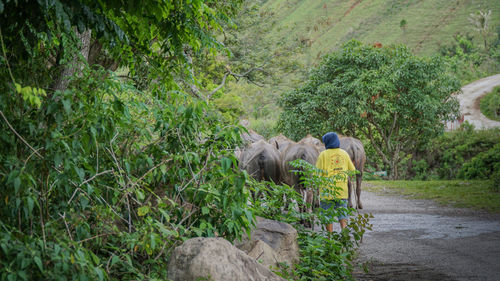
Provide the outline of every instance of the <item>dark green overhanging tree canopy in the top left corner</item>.
{"type": "MultiPolygon", "coordinates": [[[[64,90],[80,52],[78,59],[90,65],[127,67],[128,78],[136,84],[173,84],[173,76],[184,73],[190,63],[187,48],[222,49],[214,32],[230,21],[241,1],[3,2],[1,32],[10,64],[27,65],[36,54],[48,66],[39,69],[51,82],[47,87],[64,90]]],[[[23,73],[29,72],[14,76],[23,73]]]]}

